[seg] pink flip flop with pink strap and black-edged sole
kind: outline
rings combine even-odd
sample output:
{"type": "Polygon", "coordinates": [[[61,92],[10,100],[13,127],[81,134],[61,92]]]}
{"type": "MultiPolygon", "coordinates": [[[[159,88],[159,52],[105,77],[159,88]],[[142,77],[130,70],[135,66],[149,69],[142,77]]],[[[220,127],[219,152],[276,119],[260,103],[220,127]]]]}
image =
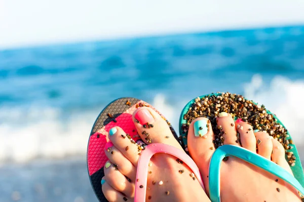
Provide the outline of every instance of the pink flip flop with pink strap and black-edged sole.
{"type": "MultiPolygon", "coordinates": [[[[108,132],[111,128],[119,126],[129,134],[134,141],[140,140],[132,120],[132,114],[138,107],[143,106],[150,107],[158,112],[155,108],[142,100],[136,98],[120,98],[108,104],[101,111],[93,125],[88,143],[87,163],[90,181],[99,201],[107,201],[101,190],[101,178],[104,176],[103,166],[108,160],[104,153],[104,146],[109,141],[108,132]]],[[[161,115],[160,112],[158,113],[161,115]]],[[[172,126],[168,121],[167,123],[172,134],[180,143],[172,126]]],[[[137,170],[137,179],[139,179],[139,181],[136,182],[136,185],[138,185],[138,183],[141,183],[140,185],[146,185],[146,163],[152,155],[158,152],[166,152],[182,159],[190,168],[192,168],[196,177],[201,182],[201,176],[199,175],[199,170],[194,161],[183,151],[169,145],[151,144],[151,146],[148,145],[145,147],[142,156],[140,156],[139,169],[137,170]]],[[[136,201],[144,201],[142,200],[142,197],[145,196],[145,190],[146,189],[142,188],[136,189],[136,201]]]]}

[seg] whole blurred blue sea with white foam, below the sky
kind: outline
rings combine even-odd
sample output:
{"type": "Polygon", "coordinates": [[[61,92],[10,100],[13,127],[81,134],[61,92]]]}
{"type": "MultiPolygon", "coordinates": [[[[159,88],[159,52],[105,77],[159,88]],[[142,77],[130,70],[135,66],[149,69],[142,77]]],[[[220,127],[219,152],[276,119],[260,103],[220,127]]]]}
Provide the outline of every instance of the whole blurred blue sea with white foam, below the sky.
{"type": "Polygon", "coordinates": [[[0,50],[0,201],[97,202],[86,151],[112,100],[135,97],[178,131],[183,106],[242,94],[284,123],[304,159],[304,26],[0,50]]]}

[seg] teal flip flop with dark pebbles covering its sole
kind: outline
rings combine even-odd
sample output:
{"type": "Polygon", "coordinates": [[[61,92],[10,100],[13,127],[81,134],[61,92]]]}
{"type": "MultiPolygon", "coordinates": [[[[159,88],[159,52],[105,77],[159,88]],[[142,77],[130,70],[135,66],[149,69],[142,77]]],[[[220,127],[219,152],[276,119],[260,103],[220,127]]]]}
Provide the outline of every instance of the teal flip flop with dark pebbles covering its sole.
{"type": "Polygon", "coordinates": [[[220,201],[220,163],[223,158],[235,156],[268,171],[277,177],[285,180],[294,186],[304,195],[304,175],[300,158],[288,130],[280,122],[277,116],[265,109],[263,105],[245,99],[241,95],[231,93],[215,93],[200,96],[188,102],[183,108],[179,121],[179,134],[182,145],[187,151],[187,133],[189,124],[197,117],[207,117],[210,119],[216,136],[215,152],[213,153],[209,165],[209,197],[213,202],[220,201]],[[222,107],[224,106],[224,107],[222,107]],[[234,145],[222,145],[220,132],[216,129],[215,117],[218,113],[225,111],[231,113],[236,119],[243,118],[245,122],[252,125],[253,130],[268,132],[285,148],[285,158],[288,161],[294,177],[283,168],[256,153],[243,147],[234,145]],[[263,124],[255,123],[260,120],[263,124]],[[278,135],[279,134],[279,135],[278,135]]]}

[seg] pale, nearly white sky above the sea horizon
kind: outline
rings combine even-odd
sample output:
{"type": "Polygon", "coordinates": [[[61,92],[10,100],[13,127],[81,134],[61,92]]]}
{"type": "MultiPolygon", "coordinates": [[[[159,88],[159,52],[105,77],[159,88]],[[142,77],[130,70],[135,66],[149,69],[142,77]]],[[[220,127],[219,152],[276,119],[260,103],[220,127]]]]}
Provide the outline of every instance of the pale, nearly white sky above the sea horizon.
{"type": "Polygon", "coordinates": [[[303,0],[0,0],[0,49],[304,24],[303,0]]]}

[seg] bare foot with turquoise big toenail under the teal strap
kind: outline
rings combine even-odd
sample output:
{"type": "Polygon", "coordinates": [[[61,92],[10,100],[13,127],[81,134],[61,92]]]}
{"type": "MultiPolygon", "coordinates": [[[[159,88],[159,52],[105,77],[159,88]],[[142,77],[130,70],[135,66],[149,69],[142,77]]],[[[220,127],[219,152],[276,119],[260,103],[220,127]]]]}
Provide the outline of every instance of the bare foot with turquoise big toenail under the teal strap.
{"type": "MultiPolygon", "coordinates": [[[[234,122],[230,114],[223,112],[220,116],[216,122],[224,132],[223,144],[242,146],[257,152],[292,174],[280,142],[265,132],[253,131],[251,125],[241,119],[234,122]]],[[[212,126],[207,118],[200,117],[191,123],[187,136],[188,150],[200,169],[207,193],[209,162],[215,150],[213,140],[212,126]]],[[[297,190],[291,185],[239,158],[229,157],[222,161],[220,172],[221,201],[301,201],[297,190]]]]}

